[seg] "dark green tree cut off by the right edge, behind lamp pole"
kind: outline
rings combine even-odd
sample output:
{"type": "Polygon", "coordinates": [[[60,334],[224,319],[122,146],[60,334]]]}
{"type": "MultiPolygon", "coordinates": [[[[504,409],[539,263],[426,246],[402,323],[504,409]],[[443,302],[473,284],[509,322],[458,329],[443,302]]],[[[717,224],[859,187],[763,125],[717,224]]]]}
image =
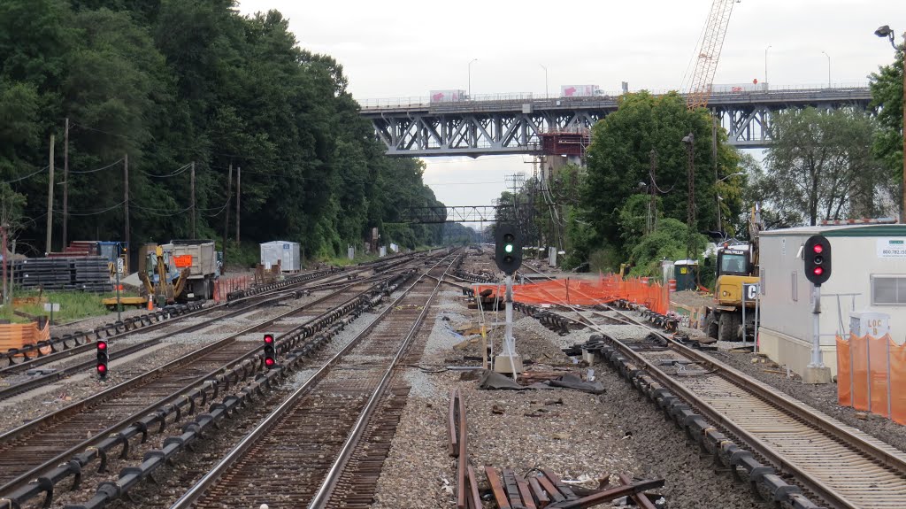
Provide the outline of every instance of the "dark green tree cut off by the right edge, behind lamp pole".
{"type": "MultiPolygon", "coordinates": [[[[869,76],[872,90],[871,108],[878,119],[872,149],[875,157],[888,170],[892,182],[902,185],[903,170],[903,49],[891,65],[885,65],[869,76]]],[[[898,200],[899,201],[899,200],[898,200]]],[[[899,207],[898,207],[899,208],[899,207]]],[[[906,211],[901,211],[901,214],[906,211]]]]}

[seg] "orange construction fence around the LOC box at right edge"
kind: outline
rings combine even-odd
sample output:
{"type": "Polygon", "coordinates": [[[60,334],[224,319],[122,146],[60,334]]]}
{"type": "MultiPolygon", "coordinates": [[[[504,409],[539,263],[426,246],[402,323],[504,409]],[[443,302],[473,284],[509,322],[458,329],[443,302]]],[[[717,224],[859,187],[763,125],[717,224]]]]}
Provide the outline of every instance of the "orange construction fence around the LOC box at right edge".
{"type": "Polygon", "coordinates": [[[906,345],[882,338],[837,336],[837,401],[906,424],[906,345]]]}

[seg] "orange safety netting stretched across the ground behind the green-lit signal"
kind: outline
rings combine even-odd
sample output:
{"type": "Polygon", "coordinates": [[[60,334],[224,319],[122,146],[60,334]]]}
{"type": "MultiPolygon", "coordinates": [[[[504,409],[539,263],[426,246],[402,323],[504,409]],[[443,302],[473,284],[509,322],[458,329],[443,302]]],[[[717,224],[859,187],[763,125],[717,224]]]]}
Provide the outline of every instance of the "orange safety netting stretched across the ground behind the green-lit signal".
{"type": "MultiPolygon", "coordinates": [[[[475,293],[487,289],[492,294],[503,294],[503,284],[476,284],[475,293]]],[[[649,283],[648,278],[622,281],[619,275],[609,274],[597,281],[588,279],[556,279],[539,283],[513,285],[513,300],[526,304],[594,305],[624,299],[642,304],[653,312],[667,314],[670,301],[667,288],[660,283],[649,283]]]]}

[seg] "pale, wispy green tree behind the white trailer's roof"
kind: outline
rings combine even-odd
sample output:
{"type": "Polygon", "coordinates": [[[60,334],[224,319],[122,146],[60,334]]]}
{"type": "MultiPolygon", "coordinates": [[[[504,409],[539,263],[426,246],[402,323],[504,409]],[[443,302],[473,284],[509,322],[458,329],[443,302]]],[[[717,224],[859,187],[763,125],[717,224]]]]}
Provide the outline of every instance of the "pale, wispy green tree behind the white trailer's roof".
{"type": "Polygon", "coordinates": [[[759,198],[809,225],[851,214],[875,216],[891,205],[890,179],[872,156],[875,123],[859,110],[790,110],[776,113],[774,144],[759,198]]]}

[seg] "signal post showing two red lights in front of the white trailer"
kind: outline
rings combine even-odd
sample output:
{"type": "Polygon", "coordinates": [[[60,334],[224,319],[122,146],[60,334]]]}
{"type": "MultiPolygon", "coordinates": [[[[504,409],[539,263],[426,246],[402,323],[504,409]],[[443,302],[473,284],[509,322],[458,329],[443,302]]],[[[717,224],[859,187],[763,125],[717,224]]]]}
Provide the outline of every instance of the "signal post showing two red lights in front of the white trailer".
{"type": "Polygon", "coordinates": [[[812,283],[812,361],[805,367],[805,383],[830,383],[831,369],[821,358],[821,285],[831,277],[831,243],[824,235],[812,235],[803,249],[805,279],[812,283]]]}

